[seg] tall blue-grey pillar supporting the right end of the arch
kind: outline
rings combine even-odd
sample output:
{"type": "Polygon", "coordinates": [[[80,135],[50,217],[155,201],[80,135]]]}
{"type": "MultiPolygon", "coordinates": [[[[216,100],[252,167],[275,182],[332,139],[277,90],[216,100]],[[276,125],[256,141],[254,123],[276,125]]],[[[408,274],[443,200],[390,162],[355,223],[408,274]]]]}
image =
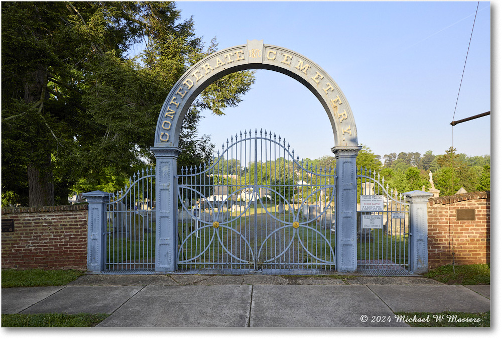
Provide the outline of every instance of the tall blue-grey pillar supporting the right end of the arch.
{"type": "Polygon", "coordinates": [[[357,270],[357,180],[355,157],[361,146],[335,146],[336,159],[336,270],[357,270]]]}

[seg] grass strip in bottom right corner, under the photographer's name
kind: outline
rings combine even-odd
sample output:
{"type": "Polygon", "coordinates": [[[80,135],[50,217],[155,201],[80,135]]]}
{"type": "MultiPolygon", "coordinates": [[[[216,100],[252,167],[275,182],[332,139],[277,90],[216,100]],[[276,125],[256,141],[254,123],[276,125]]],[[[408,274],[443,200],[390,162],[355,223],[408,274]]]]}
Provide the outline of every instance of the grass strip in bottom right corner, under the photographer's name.
{"type": "Polygon", "coordinates": [[[396,312],[412,327],[490,327],[490,312],[396,312]]]}

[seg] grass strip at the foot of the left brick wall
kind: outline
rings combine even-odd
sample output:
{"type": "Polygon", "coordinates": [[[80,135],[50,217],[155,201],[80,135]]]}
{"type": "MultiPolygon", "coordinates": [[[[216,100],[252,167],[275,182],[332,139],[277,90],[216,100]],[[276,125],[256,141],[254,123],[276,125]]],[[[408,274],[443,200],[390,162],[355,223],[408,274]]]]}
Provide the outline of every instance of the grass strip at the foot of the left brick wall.
{"type": "Polygon", "coordinates": [[[2,288],[61,286],[84,274],[79,270],[2,270],[2,288]]]}

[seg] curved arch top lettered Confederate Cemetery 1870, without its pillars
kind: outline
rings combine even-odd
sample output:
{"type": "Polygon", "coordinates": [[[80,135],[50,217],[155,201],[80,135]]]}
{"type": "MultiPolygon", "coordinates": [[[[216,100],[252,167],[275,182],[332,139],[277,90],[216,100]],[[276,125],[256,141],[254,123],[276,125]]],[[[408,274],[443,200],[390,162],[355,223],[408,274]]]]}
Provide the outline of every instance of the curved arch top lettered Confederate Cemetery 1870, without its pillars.
{"type": "Polygon", "coordinates": [[[215,52],[192,66],[176,82],[162,106],[155,147],[177,147],[185,114],[204,88],[215,80],[246,69],[268,69],[286,74],[305,85],[326,110],[333,129],[335,146],[357,146],[357,131],[352,110],[335,81],[316,63],[263,40],[247,41],[215,52]]]}

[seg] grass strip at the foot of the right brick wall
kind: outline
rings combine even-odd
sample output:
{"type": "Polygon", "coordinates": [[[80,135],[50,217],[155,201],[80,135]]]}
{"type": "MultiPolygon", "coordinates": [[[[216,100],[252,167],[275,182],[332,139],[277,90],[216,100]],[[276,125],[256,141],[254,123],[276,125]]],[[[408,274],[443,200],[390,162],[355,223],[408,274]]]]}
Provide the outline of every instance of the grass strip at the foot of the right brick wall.
{"type": "Polygon", "coordinates": [[[448,285],[489,285],[490,264],[475,265],[445,265],[424,274],[424,277],[434,279],[448,285]]]}

